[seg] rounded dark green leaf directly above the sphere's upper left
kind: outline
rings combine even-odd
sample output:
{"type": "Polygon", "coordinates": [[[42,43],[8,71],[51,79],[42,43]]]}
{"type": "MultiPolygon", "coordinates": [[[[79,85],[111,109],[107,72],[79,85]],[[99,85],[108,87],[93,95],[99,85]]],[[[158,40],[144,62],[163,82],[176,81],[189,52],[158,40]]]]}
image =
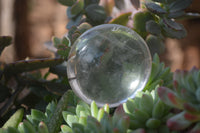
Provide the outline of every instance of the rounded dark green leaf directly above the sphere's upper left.
{"type": "Polygon", "coordinates": [[[86,16],[92,25],[99,25],[106,20],[106,12],[102,6],[91,4],[85,9],[86,16]]]}

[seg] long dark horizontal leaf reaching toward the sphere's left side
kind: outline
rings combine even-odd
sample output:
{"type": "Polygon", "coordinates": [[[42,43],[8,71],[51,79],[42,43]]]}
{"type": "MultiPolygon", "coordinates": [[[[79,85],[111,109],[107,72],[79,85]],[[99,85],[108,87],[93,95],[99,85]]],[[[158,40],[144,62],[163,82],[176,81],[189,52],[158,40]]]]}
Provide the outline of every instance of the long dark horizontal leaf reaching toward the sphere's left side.
{"type": "Polygon", "coordinates": [[[30,60],[21,60],[14,63],[7,64],[5,66],[4,74],[17,74],[27,71],[32,71],[40,68],[46,68],[61,64],[64,59],[61,58],[44,58],[44,59],[30,59],[30,60]]]}

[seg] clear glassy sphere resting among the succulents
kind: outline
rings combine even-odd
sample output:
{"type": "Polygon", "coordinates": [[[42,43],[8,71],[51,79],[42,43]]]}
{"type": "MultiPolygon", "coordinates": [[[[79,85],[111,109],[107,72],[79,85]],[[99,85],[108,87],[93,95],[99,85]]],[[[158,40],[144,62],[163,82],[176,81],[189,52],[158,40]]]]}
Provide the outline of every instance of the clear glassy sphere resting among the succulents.
{"type": "Polygon", "coordinates": [[[145,41],[128,27],[103,24],[73,44],[67,74],[73,91],[85,102],[116,107],[147,83],[151,55],[145,41]]]}

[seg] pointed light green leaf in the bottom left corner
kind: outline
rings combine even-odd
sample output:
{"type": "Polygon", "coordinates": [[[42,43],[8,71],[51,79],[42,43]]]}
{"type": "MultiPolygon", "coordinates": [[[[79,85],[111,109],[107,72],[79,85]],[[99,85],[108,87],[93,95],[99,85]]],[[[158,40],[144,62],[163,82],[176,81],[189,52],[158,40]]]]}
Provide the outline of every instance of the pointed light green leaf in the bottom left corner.
{"type": "Polygon", "coordinates": [[[8,127],[13,127],[17,128],[19,123],[22,121],[22,118],[24,116],[24,110],[23,109],[18,109],[8,120],[7,122],[3,125],[2,128],[8,128],[8,127]]]}

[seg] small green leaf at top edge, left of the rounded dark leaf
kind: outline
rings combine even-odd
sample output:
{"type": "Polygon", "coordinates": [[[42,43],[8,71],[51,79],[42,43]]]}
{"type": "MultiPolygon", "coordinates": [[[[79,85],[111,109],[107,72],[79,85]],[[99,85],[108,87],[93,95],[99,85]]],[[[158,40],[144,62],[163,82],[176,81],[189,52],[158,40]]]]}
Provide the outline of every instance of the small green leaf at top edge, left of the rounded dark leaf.
{"type": "Polygon", "coordinates": [[[71,14],[72,15],[78,15],[84,7],[84,1],[83,0],[77,0],[77,2],[71,7],[71,14]]]}

